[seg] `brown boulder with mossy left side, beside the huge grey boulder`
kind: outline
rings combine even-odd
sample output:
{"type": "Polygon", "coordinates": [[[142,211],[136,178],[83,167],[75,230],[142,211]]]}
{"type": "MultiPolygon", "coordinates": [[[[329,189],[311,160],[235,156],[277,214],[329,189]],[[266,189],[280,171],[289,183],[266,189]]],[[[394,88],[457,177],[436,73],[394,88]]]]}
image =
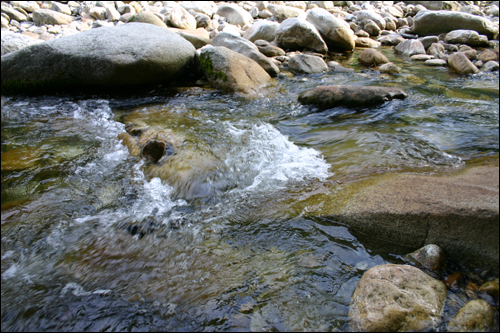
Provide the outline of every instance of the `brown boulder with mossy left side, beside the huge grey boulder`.
{"type": "Polygon", "coordinates": [[[201,48],[200,62],[213,85],[231,91],[256,92],[271,79],[254,60],[222,46],[201,48]]]}

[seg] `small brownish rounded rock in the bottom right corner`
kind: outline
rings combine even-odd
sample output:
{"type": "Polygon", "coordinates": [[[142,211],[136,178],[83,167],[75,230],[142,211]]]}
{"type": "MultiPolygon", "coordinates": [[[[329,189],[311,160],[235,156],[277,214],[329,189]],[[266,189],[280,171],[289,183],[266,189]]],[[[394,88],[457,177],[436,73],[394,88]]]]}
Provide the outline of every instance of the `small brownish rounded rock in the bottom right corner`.
{"type": "Polygon", "coordinates": [[[465,304],[448,324],[449,332],[489,332],[495,320],[495,309],[476,299],[465,304]]]}

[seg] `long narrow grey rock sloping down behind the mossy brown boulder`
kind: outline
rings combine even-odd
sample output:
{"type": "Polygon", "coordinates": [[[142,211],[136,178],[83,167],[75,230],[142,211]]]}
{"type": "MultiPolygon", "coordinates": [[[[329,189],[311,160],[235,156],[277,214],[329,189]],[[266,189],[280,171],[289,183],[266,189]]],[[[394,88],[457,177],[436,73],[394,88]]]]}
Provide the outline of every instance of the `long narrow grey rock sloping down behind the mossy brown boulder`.
{"type": "Polygon", "coordinates": [[[227,47],[228,49],[253,59],[272,77],[275,77],[280,73],[278,66],[276,66],[268,57],[263,55],[254,43],[243,37],[238,37],[227,32],[221,32],[212,39],[212,45],[227,47]]]}

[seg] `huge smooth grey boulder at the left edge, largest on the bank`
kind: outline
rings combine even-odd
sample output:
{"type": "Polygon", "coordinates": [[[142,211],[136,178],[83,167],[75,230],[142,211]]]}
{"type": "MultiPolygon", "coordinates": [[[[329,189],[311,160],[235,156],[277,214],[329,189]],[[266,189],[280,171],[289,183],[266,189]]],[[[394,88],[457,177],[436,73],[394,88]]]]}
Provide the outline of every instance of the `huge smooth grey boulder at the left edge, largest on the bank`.
{"type": "Polygon", "coordinates": [[[2,90],[169,82],[192,70],[195,54],[187,40],[151,24],[92,29],[2,56],[2,90]]]}

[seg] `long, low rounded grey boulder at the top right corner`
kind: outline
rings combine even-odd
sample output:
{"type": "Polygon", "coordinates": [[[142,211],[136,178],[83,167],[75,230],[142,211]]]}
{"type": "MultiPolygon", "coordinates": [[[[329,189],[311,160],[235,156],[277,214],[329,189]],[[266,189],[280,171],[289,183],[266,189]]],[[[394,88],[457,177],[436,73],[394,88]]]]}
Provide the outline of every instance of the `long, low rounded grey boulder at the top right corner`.
{"type": "Polygon", "coordinates": [[[453,30],[474,30],[494,39],[498,28],[487,18],[462,12],[426,10],[413,18],[413,32],[419,36],[439,35],[453,30]]]}

